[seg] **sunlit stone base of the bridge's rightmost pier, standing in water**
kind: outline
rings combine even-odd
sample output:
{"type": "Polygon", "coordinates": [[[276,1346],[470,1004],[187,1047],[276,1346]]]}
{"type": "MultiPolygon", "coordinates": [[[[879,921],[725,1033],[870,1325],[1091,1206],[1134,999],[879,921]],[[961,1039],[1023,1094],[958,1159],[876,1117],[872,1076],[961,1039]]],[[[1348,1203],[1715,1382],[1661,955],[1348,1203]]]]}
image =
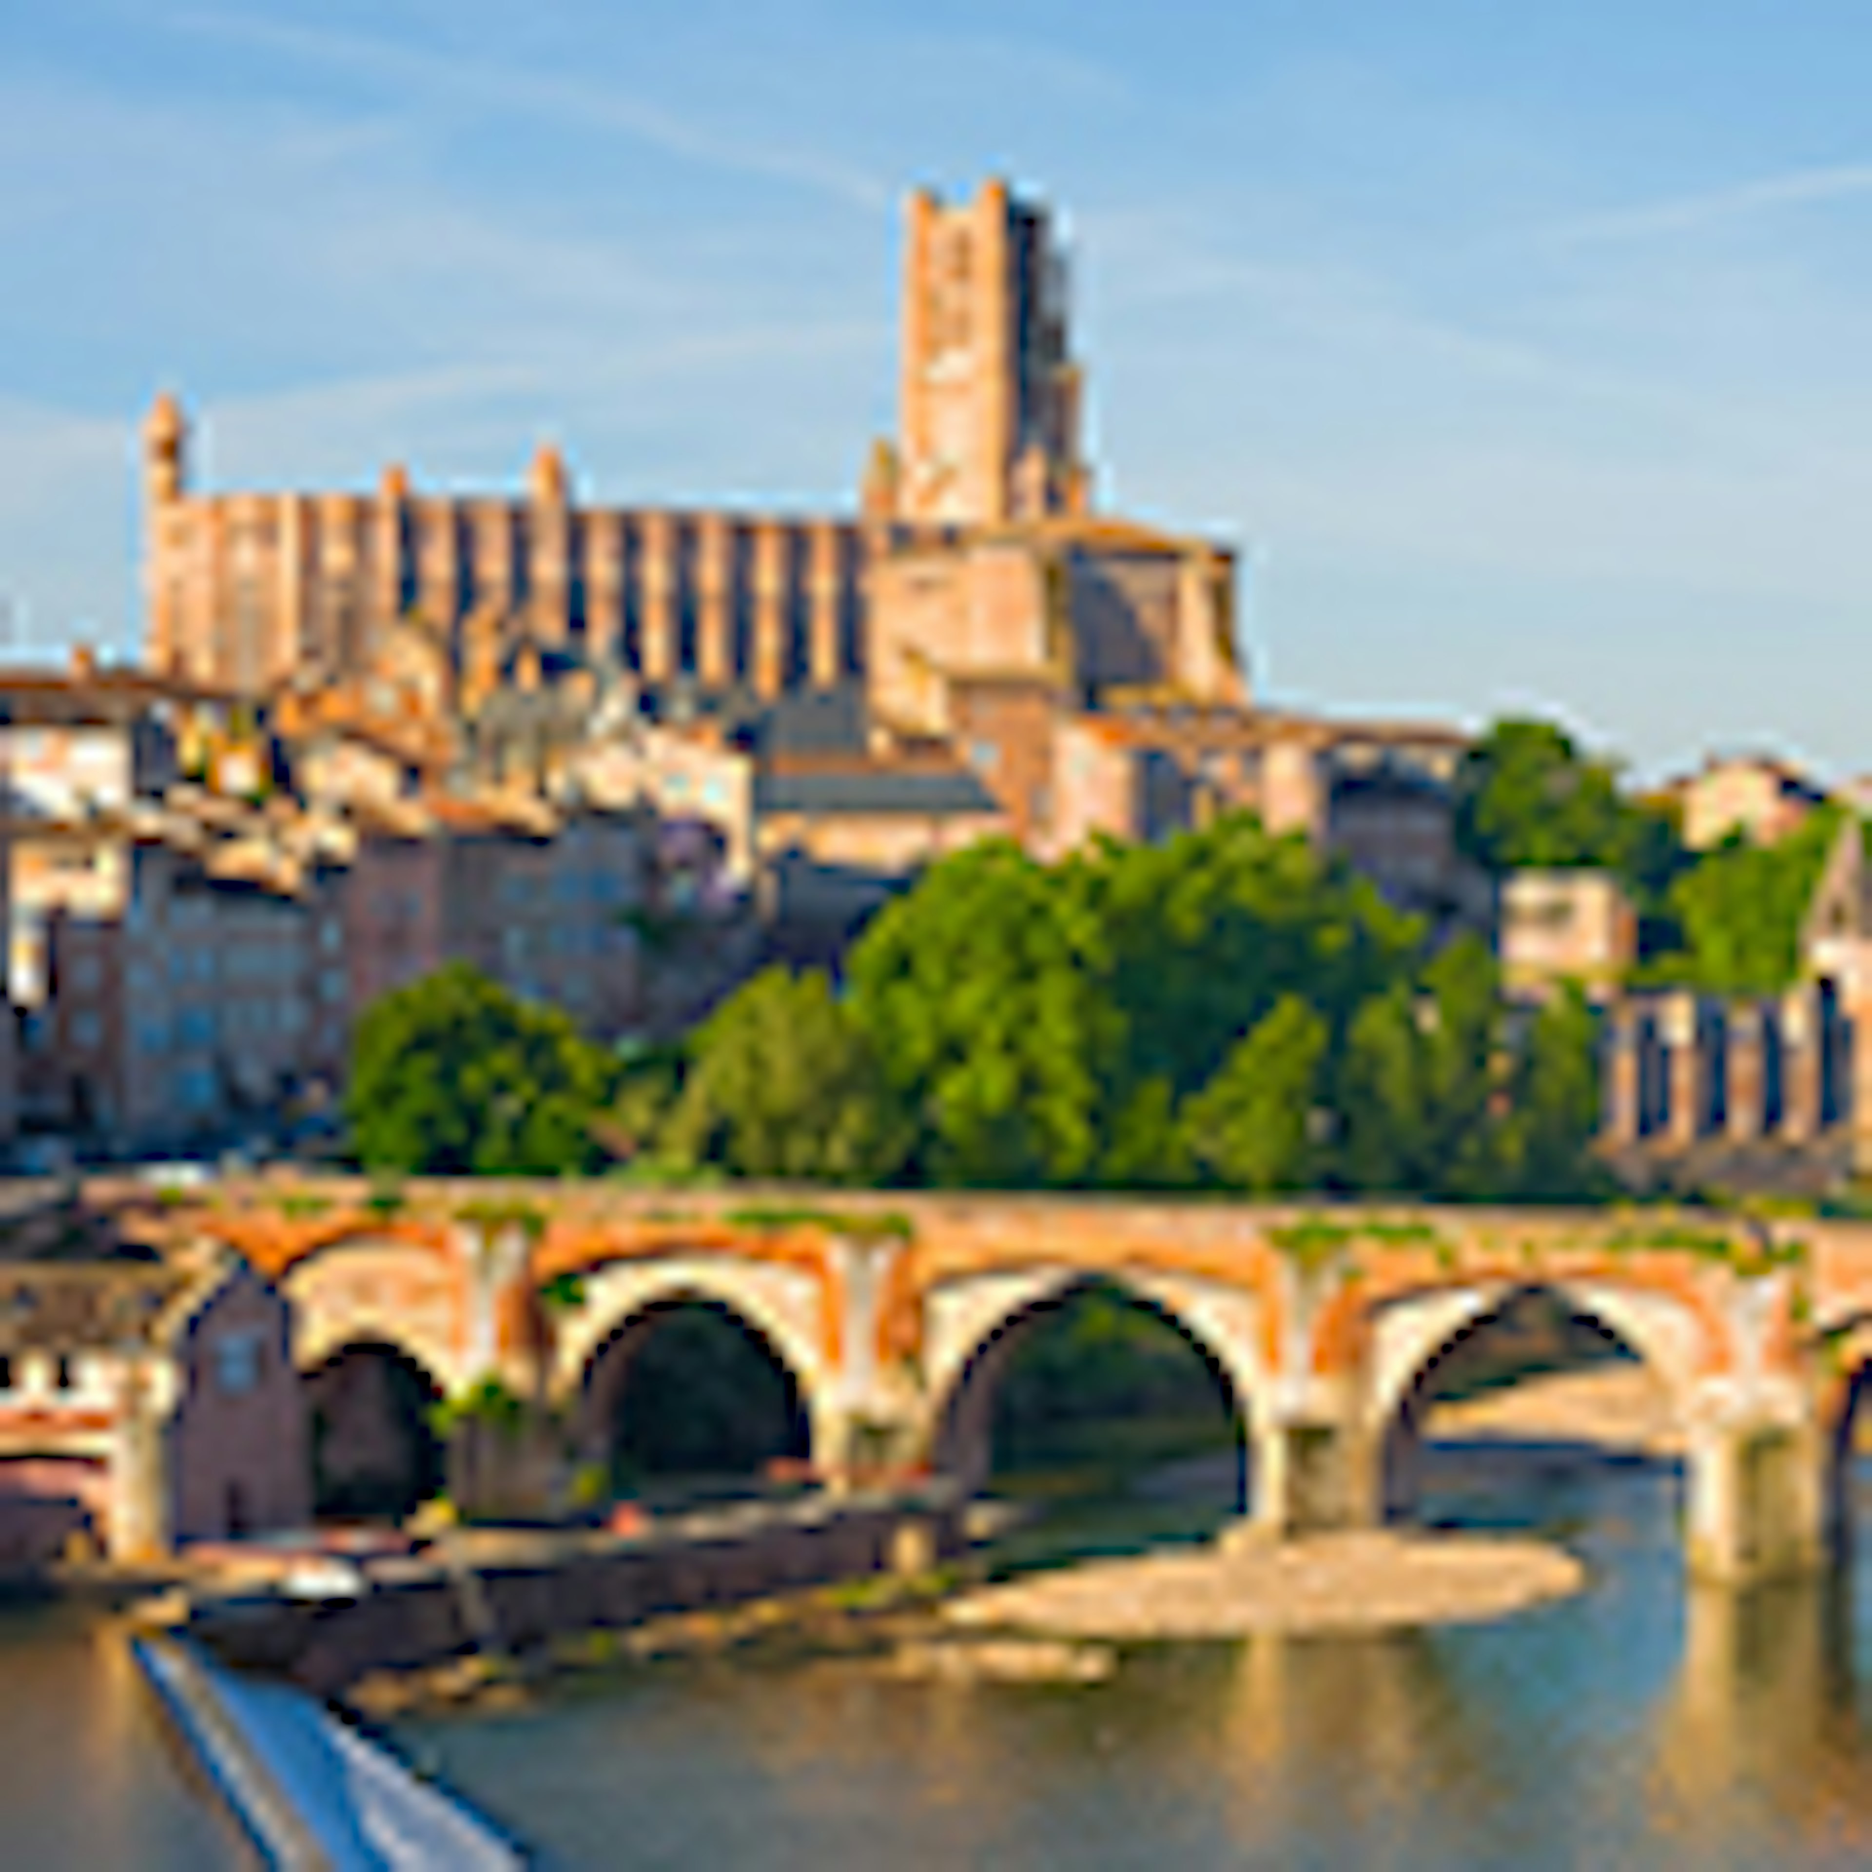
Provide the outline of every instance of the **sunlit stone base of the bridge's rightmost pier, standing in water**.
{"type": "Polygon", "coordinates": [[[1814,1425],[1765,1415],[1692,1421],[1685,1481],[1692,1578],[1752,1586],[1823,1565],[1823,1449],[1814,1425]]]}

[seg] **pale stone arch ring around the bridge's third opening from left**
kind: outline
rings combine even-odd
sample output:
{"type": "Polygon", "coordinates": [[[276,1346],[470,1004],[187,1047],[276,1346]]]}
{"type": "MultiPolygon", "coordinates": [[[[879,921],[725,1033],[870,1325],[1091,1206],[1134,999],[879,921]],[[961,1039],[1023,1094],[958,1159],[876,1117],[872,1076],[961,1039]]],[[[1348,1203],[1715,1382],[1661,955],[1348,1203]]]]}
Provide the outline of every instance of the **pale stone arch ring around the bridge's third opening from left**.
{"type": "Polygon", "coordinates": [[[981,1488],[994,1466],[996,1400],[1022,1346],[1076,1297],[1110,1292],[1168,1325],[1202,1361],[1234,1419],[1241,1464],[1236,1507],[1245,1509],[1250,1434],[1265,1376],[1254,1357],[1254,1335],[1243,1329],[1245,1295],[1207,1288],[1209,1282],[1136,1269],[1050,1267],[958,1282],[949,1295],[932,1295],[938,1333],[929,1367],[930,1466],[964,1488],[981,1488]]]}

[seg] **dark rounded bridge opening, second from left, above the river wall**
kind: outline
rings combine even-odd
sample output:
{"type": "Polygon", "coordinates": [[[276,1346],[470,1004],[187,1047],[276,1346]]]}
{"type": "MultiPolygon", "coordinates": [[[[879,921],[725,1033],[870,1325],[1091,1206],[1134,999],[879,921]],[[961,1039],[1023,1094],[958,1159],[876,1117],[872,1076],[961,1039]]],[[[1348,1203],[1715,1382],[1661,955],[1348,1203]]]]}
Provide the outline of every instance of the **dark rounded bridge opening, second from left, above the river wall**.
{"type": "Polygon", "coordinates": [[[812,1456],[797,1374],[766,1333],[700,1295],[657,1301],[599,1346],[582,1421],[614,1494],[745,1492],[812,1456]]]}

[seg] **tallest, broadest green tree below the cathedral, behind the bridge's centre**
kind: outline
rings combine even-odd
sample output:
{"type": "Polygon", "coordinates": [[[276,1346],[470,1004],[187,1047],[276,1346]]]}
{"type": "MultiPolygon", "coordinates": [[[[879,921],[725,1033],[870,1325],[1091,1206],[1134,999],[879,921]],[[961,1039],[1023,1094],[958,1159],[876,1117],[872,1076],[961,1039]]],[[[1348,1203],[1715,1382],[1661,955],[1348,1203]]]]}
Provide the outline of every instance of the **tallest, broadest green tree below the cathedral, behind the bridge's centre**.
{"type": "Polygon", "coordinates": [[[1179,1108],[1294,994],[1338,1033],[1421,927],[1301,839],[1230,816],[1037,865],[977,846],[857,943],[852,1007],[945,1183],[1164,1187],[1179,1108]]]}

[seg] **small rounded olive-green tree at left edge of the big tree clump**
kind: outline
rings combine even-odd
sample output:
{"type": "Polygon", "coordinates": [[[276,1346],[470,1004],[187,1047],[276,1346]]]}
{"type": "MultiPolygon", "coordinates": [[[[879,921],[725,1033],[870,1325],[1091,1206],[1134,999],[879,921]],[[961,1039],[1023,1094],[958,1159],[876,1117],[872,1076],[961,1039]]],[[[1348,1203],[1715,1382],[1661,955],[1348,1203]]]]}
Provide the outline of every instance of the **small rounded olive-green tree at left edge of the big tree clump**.
{"type": "Polygon", "coordinates": [[[769,968],[696,1031],[659,1146],[736,1176],[880,1181],[908,1127],[870,1043],[818,970],[769,968]]]}

